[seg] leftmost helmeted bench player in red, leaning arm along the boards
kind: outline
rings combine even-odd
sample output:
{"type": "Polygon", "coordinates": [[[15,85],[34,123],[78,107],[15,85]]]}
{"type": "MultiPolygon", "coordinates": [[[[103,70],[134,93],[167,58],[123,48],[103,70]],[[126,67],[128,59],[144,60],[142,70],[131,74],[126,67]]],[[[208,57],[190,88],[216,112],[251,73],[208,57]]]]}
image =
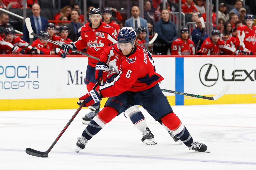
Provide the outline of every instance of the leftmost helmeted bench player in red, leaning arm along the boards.
{"type": "Polygon", "coordinates": [[[20,51],[22,54],[40,54],[36,47],[33,48],[19,36],[15,36],[15,31],[12,27],[5,28],[5,40],[11,42],[14,46],[18,46],[20,50],[24,49],[24,51],[20,51]]]}

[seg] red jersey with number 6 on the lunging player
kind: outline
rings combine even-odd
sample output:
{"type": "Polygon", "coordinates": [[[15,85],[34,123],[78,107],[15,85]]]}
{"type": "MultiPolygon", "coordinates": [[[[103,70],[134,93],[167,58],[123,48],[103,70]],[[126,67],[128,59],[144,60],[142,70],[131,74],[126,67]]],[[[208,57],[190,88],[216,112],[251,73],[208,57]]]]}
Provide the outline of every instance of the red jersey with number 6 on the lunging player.
{"type": "Polygon", "coordinates": [[[100,61],[109,64],[111,60],[116,60],[119,75],[100,89],[103,97],[117,96],[125,91],[147,90],[164,79],[155,72],[150,53],[140,46],[136,46],[130,55],[124,56],[116,44],[111,45],[101,53],[100,61]]]}

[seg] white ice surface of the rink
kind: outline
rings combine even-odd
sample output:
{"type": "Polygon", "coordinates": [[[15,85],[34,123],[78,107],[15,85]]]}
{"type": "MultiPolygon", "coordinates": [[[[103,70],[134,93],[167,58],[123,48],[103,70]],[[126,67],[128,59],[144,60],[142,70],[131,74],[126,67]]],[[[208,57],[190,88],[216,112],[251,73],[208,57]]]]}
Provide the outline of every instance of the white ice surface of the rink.
{"type": "Polygon", "coordinates": [[[79,153],[76,137],[85,125],[82,109],[49,158],[26,154],[46,151],[75,113],[67,110],[0,112],[0,170],[94,169],[256,169],[256,104],[173,106],[194,140],[210,153],[196,153],[175,143],[144,109],[140,110],[157,145],[145,145],[142,134],[124,115],[108,123],[79,153]]]}

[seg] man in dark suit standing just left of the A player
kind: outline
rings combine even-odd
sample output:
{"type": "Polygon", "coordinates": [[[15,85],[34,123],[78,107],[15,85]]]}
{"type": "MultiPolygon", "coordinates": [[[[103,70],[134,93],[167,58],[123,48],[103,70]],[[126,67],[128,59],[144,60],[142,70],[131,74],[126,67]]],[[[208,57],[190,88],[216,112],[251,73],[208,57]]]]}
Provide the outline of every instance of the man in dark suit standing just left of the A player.
{"type": "Polygon", "coordinates": [[[73,42],[77,41],[79,37],[78,30],[83,25],[79,22],[79,11],[72,10],[71,11],[71,22],[67,24],[69,35],[68,38],[73,42]]]}

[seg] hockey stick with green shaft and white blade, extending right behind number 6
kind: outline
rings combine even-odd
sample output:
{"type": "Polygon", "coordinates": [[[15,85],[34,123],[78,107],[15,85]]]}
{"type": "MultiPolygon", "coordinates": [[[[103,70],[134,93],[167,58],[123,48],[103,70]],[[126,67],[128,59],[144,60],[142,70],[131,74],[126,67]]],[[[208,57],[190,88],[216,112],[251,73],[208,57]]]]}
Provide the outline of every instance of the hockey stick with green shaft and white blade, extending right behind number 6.
{"type": "Polygon", "coordinates": [[[196,98],[201,98],[201,99],[208,99],[208,100],[217,100],[219,99],[221,96],[223,96],[226,92],[228,92],[230,85],[226,85],[226,87],[219,93],[216,94],[215,96],[212,97],[207,97],[207,96],[200,96],[197,94],[189,94],[189,93],[184,93],[184,92],[176,92],[176,91],[172,91],[172,90],[166,90],[166,89],[161,89],[163,92],[169,92],[169,93],[174,93],[174,94],[180,94],[180,95],[184,95],[184,96],[190,96],[190,97],[196,97],[196,98]]]}

